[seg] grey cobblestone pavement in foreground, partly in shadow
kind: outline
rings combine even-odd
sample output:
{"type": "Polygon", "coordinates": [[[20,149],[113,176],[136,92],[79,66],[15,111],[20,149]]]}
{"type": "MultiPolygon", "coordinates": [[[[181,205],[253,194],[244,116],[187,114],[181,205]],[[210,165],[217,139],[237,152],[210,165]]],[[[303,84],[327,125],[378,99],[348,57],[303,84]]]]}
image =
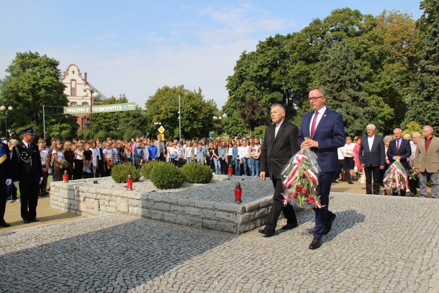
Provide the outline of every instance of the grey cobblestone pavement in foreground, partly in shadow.
{"type": "MultiPolygon", "coordinates": [[[[337,194],[263,238],[122,215],[0,234],[0,292],[438,292],[439,201],[337,194]]],[[[285,220],[279,220],[279,226],[285,220]]]]}

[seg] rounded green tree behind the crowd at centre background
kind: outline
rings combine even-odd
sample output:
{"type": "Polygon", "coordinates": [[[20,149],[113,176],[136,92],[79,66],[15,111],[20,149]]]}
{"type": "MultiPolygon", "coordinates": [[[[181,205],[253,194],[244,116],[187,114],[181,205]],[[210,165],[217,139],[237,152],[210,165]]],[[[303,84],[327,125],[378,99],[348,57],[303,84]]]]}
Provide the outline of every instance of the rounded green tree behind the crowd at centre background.
{"type": "Polygon", "coordinates": [[[181,138],[207,138],[209,132],[215,131],[212,117],[218,115],[218,107],[213,100],[205,100],[201,89],[190,91],[184,85],[157,89],[145,103],[145,119],[148,136],[156,137],[160,122],[165,128],[165,139],[179,139],[179,116],[181,119],[181,138]],[[179,114],[179,95],[180,108],[179,114]]]}

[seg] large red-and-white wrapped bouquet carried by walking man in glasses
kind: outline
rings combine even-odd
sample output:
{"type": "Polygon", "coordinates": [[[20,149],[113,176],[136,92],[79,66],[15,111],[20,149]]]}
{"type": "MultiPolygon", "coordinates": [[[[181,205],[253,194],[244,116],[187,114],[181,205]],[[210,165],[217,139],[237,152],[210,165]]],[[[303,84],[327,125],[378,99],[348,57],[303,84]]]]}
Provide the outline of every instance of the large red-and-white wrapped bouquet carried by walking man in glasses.
{"type": "MultiPolygon", "coordinates": [[[[283,167],[283,203],[290,203],[304,209],[320,206],[319,186],[320,166],[317,155],[308,147],[302,148],[283,167]]],[[[324,206],[323,206],[324,207],[324,206]]]]}

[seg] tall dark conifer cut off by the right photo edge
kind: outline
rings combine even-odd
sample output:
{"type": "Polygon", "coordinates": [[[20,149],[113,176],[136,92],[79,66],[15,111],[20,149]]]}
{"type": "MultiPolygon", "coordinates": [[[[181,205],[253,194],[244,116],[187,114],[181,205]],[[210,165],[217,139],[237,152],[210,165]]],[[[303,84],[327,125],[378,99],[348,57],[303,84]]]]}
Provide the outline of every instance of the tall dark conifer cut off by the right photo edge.
{"type": "Polygon", "coordinates": [[[439,132],[439,18],[426,34],[420,55],[418,86],[406,115],[406,122],[433,126],[439,132]]]}

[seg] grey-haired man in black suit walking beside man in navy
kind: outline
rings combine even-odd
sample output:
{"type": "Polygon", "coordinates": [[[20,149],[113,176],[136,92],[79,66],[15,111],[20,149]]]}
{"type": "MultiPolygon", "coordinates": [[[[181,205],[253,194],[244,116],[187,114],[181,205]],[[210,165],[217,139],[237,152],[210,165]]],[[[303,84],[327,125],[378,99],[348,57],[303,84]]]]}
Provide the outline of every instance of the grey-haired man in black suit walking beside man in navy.
{"type": "Polygon", "coordinates": [[[265,181],[266,177],[270,177],[275,188],[273,205],[268,214],[265,228],[259,229],[259,232],[264,234],[265,237],[274,235],[280,211],[283,211],[287,219],[287,224],[282,227],[282,230],[297,227],[297,218],[293,206],[289,204],[284,206],[282,202],[283,182],[280,171],[291,157],[299,151],[296,144],[299,128],[285,121],[285,107],[280,104],[271,106],[271,120],[275,124],[265,129],[260,155],[260,178],[265,181]]]}

